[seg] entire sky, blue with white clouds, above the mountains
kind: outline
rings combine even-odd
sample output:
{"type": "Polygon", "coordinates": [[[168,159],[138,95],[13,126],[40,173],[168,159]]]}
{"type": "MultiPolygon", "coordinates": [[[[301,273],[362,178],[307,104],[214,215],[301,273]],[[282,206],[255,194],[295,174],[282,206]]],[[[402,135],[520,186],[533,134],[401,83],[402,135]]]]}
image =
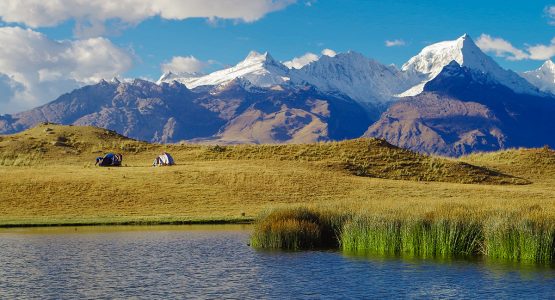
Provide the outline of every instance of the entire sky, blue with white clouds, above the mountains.
{"type": "Polygon", "coordinates": [[[504,68],[538,68],[555,56],[555,2],[1,0],[0,114],[102,78],[210,72],[251,50],[301,63],[353,50],[400,67],[464,33],[504,68]]]}

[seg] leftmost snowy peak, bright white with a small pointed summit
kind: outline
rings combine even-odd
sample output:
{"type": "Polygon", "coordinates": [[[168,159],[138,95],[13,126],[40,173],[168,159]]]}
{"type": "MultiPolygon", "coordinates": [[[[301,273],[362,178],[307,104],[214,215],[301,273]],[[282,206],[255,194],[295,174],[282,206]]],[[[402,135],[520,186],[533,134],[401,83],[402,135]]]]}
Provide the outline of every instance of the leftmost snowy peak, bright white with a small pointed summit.
{"type": "Polygon", "coordinates": [[[237,65],[216,71],[204,76],[185,74],[179,76],[174,74],[163,75],[158,83],[177,81],[183,83],[187,88],[193,89],[199,86],[214,86],[225,84],[234,79],[241,78],[257,87],[271,87],[285,84],[289,81],[289,69],[274,60],[268,53],[251,51],[242,62],[237,65]]]}

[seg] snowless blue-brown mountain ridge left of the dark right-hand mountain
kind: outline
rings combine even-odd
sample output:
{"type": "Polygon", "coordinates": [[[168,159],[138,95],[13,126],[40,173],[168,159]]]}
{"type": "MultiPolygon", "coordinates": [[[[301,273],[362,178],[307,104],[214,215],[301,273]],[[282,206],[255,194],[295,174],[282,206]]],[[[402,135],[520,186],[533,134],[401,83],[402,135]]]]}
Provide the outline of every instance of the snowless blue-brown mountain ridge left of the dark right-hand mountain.
{"type": "Polygon", "coordinates": [[[0,133],[40,122],[92,125],[152,142],[315,142],[355,138],[371,124],[349,98],[311,87],[245,88],[241,80],[191,91],[135,80],[86,86],[44,106],[0,116],[0,133]]]}

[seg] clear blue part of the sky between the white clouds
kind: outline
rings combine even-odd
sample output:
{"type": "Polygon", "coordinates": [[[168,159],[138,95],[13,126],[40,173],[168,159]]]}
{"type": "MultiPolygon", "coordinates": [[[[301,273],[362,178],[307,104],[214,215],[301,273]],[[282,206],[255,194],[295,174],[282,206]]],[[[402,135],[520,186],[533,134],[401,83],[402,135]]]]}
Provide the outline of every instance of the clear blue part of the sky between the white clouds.
{"type": "MultiPolygon", "coordinates": [[[[118,46],[132,48],[138,57],[126,74],[131,77],[160,75],[160,64],[173,56],[193,55],[200,60],[235,64],[249,50],[269,51],[279,60],[324,48],[355,50],[382,63],[402,65],[425,45],[455,39],[463,33],[502,37],[516,47],[547,44],[555,36],[549,26],[548,1],[363,1],[320,0],[299,2],[252,22],[187,19],[148,19],[112,34],[118,46]],[[386,47],[386,40],[406,45],[386,47]]],[[[54,39],[71,39],[74,22],[41,28],[54,39]]],[[[541,62],[496,60],[504,67],[524,71],[541,62]]],[[[216,65],[215,67],[217,67],[216,65]]]]}

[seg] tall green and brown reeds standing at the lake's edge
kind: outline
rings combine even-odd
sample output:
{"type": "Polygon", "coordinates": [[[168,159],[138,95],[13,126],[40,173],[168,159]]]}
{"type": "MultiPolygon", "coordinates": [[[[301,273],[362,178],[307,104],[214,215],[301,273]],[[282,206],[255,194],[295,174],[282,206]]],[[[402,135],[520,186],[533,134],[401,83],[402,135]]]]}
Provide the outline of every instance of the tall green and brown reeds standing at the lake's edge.
{"type": "Polygon", "coordinates": [[[555,220],[534,213],[461,208],[425,214],[295,208],[271,212],[258,221],[252,246],[292,250],[327,246],[351,253],[551,263],[555,220]]]}

